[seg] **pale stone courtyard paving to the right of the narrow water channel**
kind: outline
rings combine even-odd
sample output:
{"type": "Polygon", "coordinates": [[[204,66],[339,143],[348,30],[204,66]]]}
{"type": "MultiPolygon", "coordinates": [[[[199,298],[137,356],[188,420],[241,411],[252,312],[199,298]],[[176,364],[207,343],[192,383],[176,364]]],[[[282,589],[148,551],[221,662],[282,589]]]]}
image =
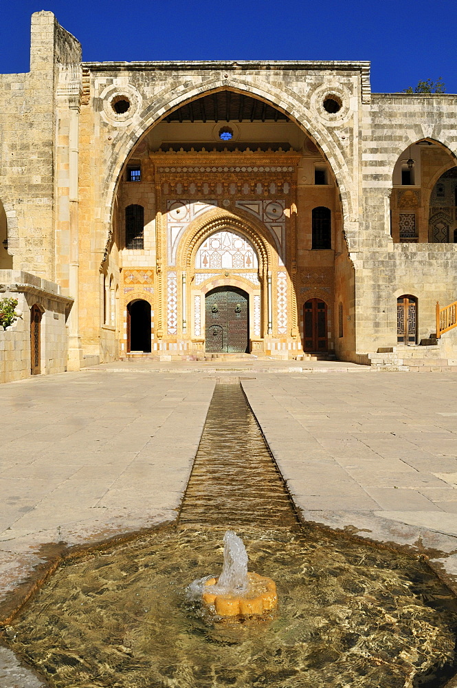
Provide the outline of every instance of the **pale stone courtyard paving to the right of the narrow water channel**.
{"type": "Polygon", "coordinates": [[[457,592],[452,376],[258,374],[241,384],[305,521],[426,553],[457,592]]]}

